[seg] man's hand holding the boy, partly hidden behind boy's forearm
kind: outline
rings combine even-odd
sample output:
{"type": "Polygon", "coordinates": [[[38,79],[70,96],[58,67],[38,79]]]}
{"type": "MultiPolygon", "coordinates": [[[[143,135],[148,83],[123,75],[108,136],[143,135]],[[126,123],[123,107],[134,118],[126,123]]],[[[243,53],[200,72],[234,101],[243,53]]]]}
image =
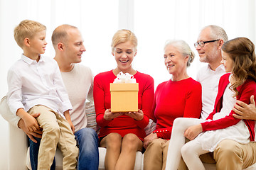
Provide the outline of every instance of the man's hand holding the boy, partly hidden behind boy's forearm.
{"type": "MultiPolygon", "coordinates": [[[[33,116],[33,118],[37,118],[40,115],[40,113],[34,113],[31,115],[33,116]]],[[[18,128],[21,128],[21,130],[23,130],[23,132],[25,132],[26,135],[28,135],[28,137],[35,143],[37,143],[37,141],[35,140],[34,137],[42,138],[42,134],[43,134],[42,130],[36,130],[34,132],[30,132],[28,128],[26,128],[26,125],[22,119],[18,121],[18,128]]]]}

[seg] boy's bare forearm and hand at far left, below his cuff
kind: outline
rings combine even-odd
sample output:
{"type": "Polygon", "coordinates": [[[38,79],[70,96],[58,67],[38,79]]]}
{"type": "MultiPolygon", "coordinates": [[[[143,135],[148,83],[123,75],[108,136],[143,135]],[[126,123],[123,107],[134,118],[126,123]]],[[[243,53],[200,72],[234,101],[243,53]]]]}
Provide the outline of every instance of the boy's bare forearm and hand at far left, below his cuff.
{"type": "Polygon", "coordinates": [[[24,121],[26,128],[30,132],[34,132],[36,130],[40,130],[36,118],[34,118],[32,115],[30,115],[29,113],[24,111],[23,108],[18,108],[16,114],[18,115],[18,117],[20,117],[24,121]]]}

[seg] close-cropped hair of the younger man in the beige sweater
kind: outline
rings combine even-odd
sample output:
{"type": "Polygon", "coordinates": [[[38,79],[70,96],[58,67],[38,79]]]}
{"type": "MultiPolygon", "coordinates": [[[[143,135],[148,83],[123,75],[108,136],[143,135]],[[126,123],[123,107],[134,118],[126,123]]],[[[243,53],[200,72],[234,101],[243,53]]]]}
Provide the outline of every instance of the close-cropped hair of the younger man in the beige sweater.
{"type": "Polygon", "coordinates": [[[67,30],[70,28],[78,29],[75,26],[70,26],[68,24],[63,24],[61,26],[58,26],[53,30],[53,35],[51,37],[51,40],[53,42],[53,46],[58,45],[58,42],[67,42],[68,41],[68,32],[67,30]]]}

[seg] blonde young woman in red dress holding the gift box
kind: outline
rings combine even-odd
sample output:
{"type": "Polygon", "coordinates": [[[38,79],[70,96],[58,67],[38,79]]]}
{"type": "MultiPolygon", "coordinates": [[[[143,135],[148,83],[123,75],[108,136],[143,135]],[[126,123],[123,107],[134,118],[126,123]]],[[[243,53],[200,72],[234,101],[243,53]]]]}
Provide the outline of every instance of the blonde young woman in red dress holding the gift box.
{"type": "Polygon", "coordinates": [[[154,80],[132,68],[137,54],[137,38],[130,30],[118,30],[112,39],[112,55],[117,67],[97,74],[93,96],[97,124],[100,125],[100,147],[107,148],[106,169],[134,169],[136,152],[142,151],[146,136],[144,128],[149,123],[149,113],[154,100],[154,80]],[[112,113],[110,83],[119,72],[129,73],[139,83],[138,112],[112,113]]]}

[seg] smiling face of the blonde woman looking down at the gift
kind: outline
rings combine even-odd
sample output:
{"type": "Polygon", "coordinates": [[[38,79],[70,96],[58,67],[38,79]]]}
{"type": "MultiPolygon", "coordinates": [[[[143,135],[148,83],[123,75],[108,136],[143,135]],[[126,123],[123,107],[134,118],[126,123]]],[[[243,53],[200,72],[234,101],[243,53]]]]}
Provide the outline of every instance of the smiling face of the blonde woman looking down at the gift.
{"type": "Polygon", "coordinates": [[[119,43],[112,52],[117,62],[117,68],[122,72],[132,69],[132,61],[136,54],[137,51],[135,51],[134,45],[130,41],[119,43]]]}

